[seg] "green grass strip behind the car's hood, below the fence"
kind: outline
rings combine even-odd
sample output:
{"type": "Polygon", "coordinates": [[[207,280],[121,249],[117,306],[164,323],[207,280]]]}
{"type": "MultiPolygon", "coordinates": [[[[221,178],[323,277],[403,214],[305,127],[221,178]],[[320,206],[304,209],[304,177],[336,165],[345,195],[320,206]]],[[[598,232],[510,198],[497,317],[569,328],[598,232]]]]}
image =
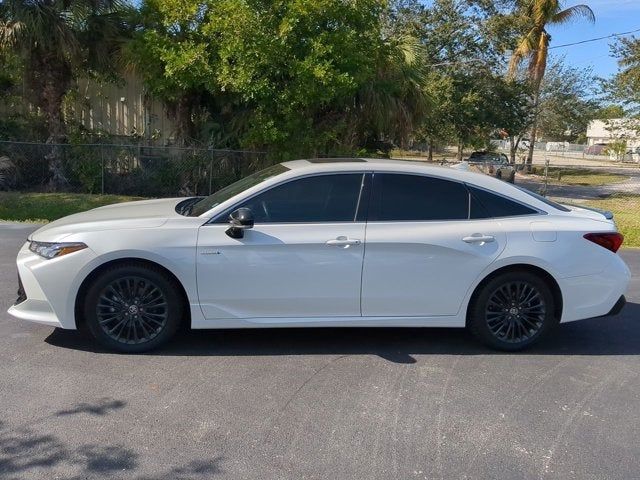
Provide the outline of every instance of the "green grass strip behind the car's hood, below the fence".
{"type": "Polygon", "coordinates": [[[0,192],[0,220],[44,223],[72,213],[131,200],[142,198],[85,193],[0,192]]]}

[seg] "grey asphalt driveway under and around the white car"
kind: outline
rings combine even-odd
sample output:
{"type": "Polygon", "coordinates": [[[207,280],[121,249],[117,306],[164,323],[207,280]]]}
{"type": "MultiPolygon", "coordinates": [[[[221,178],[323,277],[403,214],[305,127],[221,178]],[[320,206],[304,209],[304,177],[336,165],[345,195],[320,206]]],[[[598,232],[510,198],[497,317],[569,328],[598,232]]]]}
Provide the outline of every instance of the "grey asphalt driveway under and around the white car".
{"type": "Polygon", "coordinates": [[[637,478],[630,304],[522,354],[444,329],[184,333],[149,355],[4,313],[30,227],[0,226],[0,478],[637,478]]]}

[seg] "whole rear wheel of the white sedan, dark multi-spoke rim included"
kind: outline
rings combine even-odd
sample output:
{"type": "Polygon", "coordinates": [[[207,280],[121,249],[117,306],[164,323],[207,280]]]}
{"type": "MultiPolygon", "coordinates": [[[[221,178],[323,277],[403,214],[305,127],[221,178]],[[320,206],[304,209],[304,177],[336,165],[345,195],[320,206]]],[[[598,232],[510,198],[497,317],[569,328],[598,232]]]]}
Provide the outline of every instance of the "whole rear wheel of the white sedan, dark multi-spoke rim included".
{"type": "Polygon", "coordinates": [[[517,351],[538,342],[557,323],[549,286],[521,270],[498,275],[474,292],[467,327],[491,348],[517,351]]]}

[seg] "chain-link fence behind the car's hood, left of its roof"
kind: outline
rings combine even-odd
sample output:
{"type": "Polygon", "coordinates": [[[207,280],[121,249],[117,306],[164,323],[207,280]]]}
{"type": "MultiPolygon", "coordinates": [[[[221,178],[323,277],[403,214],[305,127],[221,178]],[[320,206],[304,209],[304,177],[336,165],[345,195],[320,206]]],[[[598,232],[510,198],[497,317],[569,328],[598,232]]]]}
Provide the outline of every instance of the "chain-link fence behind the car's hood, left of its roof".
{"type": "Polygon", "coordinates": [[[46,191],[57,169],[59,191],[209,195],[267,164],[264,152],[243,150],[0,141],[0,189],[46,191]]]}

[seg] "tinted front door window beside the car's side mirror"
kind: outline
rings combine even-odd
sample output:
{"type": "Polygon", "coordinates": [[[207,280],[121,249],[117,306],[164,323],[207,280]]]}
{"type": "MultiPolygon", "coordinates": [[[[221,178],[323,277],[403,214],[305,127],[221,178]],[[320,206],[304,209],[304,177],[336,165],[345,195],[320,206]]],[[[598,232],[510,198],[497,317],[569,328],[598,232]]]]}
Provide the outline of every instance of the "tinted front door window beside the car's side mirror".
{"type": "Polygon", "coordinates": [[[250,208],[256,223],[353,222],[362,179],[350,173],[292,180],[235,208],[250,208]]]}

